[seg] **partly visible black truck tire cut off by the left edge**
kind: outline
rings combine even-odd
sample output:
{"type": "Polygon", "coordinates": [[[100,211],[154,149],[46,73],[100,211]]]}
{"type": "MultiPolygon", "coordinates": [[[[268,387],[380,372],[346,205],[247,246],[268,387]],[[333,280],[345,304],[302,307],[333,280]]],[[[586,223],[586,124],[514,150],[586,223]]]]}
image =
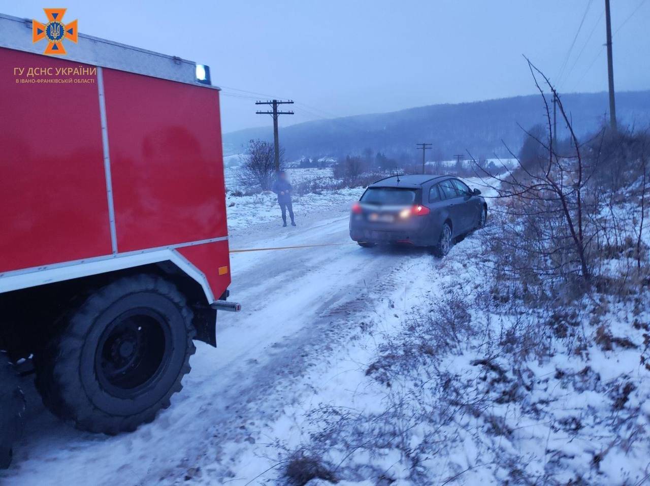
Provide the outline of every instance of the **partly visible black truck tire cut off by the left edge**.
{"type": "Polygon", "coordinates": [[[0,469],[11,464],[14,441],[22,429],[25,397],[18,376],[0,353],[0,469]]]}

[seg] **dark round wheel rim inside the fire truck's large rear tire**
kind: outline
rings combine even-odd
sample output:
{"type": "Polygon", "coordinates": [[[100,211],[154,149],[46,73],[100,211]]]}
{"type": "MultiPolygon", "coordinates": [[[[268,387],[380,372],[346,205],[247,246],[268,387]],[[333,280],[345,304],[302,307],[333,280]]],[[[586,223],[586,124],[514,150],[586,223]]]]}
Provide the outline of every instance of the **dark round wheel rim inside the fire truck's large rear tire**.
{"type": "Polygon", "coordinates": [[[151,309],[118,316],[103,331],[96,349],[99,384],[112,396],[138,396],[164,371],[170,342],[169,326],[151,309]]]}

